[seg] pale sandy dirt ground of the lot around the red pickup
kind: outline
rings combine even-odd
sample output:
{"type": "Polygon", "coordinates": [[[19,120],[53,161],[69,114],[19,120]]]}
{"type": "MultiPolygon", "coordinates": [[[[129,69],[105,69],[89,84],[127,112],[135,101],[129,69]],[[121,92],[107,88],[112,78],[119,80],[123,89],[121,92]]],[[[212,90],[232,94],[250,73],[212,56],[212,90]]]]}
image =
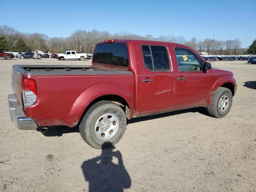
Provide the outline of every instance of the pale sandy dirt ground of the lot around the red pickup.
{"type": "Polygon", "coordinates": [[[234,72],[238,84],[221,119],[193,108],[128,121],[123,138],[96,150],[77,128],[17,130],[10,121],[13,64],[90,64],[55,59],[0,59],[0,191],[128,192],[256,191],[256,65],[212,62],[234,72]],[[113,188],[111,188],[111,186],[113,188]]]}

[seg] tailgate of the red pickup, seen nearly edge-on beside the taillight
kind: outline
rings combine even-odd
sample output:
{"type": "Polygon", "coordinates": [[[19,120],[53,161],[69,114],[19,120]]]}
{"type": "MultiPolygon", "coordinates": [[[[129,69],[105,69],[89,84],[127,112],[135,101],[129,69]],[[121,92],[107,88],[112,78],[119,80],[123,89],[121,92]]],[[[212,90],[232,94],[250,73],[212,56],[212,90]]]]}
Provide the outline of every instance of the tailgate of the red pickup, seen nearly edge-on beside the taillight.
{"type": "Polygon", "coordinates": [[[22,92],[21,92],[21,78],[25,70],[17,65],[12,66],[12,91],[17,100],[18,106],[23,110],[22,92]]]}

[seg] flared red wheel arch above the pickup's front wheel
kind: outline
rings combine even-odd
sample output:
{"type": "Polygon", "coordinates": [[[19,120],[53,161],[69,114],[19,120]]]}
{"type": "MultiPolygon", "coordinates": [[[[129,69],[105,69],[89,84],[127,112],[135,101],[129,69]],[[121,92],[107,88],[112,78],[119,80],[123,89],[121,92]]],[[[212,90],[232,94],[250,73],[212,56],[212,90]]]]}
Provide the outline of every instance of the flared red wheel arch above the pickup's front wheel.
{"type": "Polygon", "coordinates": [[[206,100],[207,105],[210,105],[212,103],[213,93],[225,83],[232,83],[234,84],[234,87],[236,87],[236,80],[234,79],[234,77],[232,77],[230,74],[223,74],[215,81],[214,85],[212,86],[206,100]]]}

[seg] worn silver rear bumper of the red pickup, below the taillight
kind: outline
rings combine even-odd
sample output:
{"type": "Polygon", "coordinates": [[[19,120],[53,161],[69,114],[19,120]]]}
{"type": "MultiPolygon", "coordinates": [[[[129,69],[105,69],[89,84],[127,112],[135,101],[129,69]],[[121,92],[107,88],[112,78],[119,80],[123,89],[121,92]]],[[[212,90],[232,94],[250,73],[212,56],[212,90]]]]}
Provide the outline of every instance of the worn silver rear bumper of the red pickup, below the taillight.
{"type": "Polygon", "coordinates": [[[20,130],[35,130],[38,128],[36,121],[31,117],[27,117],[23,110],[18,106],[14,94],[8,95],[8,102],[11,120],[16,128],[20,130]]]}

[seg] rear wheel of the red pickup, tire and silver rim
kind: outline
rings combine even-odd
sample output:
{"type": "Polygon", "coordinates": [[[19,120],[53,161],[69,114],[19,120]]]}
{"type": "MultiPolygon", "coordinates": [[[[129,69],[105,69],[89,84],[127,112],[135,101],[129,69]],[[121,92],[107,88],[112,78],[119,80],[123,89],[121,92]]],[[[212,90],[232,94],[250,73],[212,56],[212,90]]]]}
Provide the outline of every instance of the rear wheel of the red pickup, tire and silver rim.
{"type": "Polygon", "coordinates": [[[108,148],[116,144],[124,135],[125,129],[124,110],[110,101],[94,104],[79,125],[83,140],[96,149],[108,148]]]}

